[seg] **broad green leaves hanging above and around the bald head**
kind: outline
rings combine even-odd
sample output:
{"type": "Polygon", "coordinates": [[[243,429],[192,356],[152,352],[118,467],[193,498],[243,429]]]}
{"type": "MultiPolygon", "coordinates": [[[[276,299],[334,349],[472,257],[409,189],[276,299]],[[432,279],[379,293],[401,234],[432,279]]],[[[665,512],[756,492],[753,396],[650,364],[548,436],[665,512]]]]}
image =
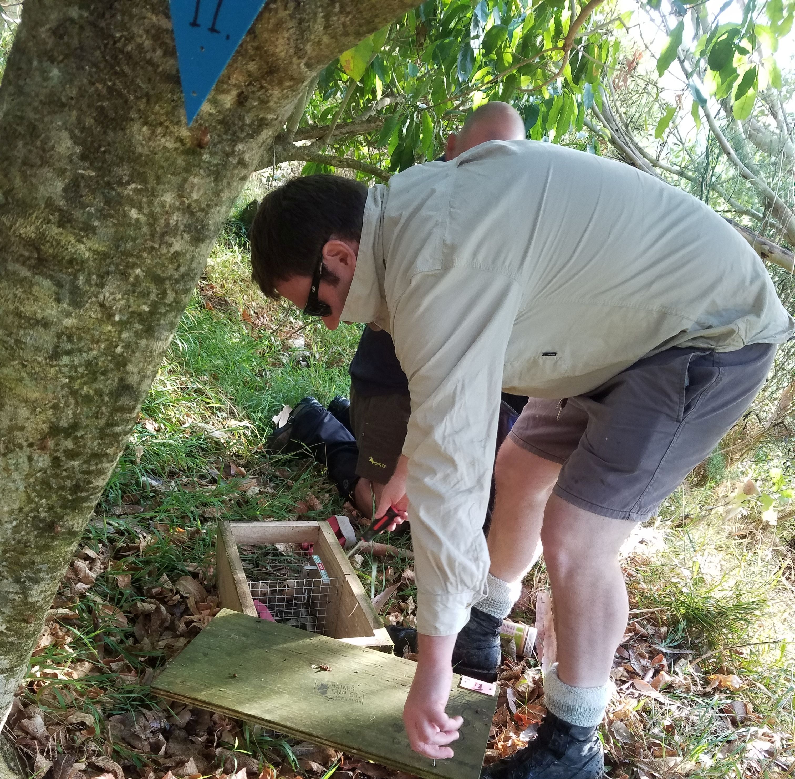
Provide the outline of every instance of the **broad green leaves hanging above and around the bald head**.
{"type": "Polygon", "coordinates": [[[613,35],[619,21],[589,33],[596,26],[589,19],[564,65],[561,47],[571,21],[562,0],[534,6],[527,0],[428,0],[325,68],[304,123],[327,125],[353,79],[359,86],[340,125],[371,112],[382,98],[389,104],[375,112],[378,130],[351,134],[335,151],[390,172],[437,157],[467,112],[490,100],[512,103],[529,137],[560,142],[582,130],[599,81],[619,55],[613,35]]]}

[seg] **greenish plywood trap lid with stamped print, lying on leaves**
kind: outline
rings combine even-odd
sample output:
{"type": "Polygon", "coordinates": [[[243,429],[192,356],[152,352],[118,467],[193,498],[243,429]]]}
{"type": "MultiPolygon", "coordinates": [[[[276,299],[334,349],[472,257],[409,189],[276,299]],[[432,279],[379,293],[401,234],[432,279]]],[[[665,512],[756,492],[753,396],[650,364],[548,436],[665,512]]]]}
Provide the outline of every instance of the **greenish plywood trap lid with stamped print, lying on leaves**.
{"type": "Polygon", "coordinates": [[[417,665],[401,657],[223,609],[165,667],[152,692],[332,746],[419,777],[477,779],[496,698],[453,676],[456,755],[409,747],[402,713],[417,665]]]}

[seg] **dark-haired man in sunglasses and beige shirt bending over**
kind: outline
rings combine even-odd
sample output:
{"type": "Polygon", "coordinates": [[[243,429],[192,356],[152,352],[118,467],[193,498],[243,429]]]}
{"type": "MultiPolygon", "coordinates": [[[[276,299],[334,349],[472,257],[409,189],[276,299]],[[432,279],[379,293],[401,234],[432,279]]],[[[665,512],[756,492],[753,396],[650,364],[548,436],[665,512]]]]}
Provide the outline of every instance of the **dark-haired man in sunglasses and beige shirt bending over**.
{"type": "Polygon", "coordinates": [[[542,547],[559,647],[549,715],[483,776],[599,776],[628,608],[619,548],[739,419],[795,329],[762,262],[685,192],[533,141],[491,141],[369,190],[293,180],[266,196],[250,237],[264,293],[332,329],[390,331],[409,378],[408,435],[376,511],[412,522],[409,742],[452,755],[456,636],[493,638],[542,547]],[[498,454],[487,547],[501,389],[531,400],[498,454]]]}

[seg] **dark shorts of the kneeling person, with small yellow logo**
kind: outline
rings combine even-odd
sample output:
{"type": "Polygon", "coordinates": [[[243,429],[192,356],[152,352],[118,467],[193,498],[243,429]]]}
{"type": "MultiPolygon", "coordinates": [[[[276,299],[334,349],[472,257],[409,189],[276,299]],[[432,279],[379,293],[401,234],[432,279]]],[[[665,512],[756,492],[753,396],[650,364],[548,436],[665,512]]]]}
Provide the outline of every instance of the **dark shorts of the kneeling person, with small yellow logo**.
{"type": "Polygon", "coordinates": [[[410,416],[409,395],[363,396],[351,387],[351,428],[359,447],[357,476],[378,484],[392,478],[410,416]]]}

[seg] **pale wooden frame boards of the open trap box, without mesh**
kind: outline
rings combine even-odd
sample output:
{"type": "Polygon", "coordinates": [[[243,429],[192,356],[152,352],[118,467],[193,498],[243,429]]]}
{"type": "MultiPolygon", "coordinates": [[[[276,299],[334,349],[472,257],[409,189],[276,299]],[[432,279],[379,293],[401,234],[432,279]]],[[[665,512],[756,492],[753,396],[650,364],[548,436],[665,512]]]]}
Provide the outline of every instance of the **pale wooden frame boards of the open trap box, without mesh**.
{"type": "Polygon", "coordinates": [[[348,644],[392,652],[393,644],[328,522],[219,521],[216,576],[223,608],[258,616],[239,547],[313,546],[335,586],[327,591],[328,616],[322,633],[348,644]]]}

